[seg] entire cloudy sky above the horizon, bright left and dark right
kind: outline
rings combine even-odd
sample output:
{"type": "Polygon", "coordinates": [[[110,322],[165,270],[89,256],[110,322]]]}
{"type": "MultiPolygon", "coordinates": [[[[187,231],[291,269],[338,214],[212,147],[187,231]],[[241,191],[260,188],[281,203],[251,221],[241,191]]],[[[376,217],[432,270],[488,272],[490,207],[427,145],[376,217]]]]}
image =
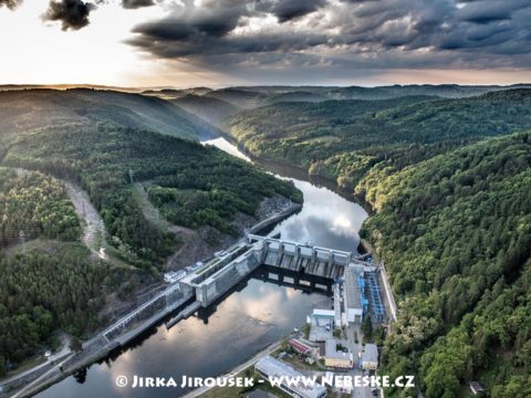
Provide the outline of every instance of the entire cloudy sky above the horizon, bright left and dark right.
{"type": "Polygon", "coordinates": [[[0,84],[531,82],[531,0],[0,0],[0,84]]]}

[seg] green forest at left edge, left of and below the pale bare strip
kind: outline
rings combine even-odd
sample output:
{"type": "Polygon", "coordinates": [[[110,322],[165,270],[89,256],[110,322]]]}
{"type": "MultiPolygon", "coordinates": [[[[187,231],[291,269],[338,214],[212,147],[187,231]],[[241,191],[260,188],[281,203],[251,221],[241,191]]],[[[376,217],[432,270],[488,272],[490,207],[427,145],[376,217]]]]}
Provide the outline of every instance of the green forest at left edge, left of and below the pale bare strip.
{"type": "MultiPolygon", "coordinates": [[[[59,180],[0,168],[0,375],[56,344],[62,328],[81,336],[98,325],[107,264],[88,259],[80,221],[59,180]],[[24,238],[19,235],[24,231],[24,238]],[[25,243],[24,243],[25,242],[25,243]]],[[[113,286],[111,286],[113,284],[113,286]]]]}

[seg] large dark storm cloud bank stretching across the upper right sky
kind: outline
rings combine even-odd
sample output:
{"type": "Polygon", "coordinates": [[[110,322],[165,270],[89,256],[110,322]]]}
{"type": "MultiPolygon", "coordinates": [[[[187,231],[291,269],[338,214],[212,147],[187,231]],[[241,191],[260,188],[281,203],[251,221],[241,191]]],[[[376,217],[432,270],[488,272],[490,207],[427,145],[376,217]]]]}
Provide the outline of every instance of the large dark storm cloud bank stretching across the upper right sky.
{"type": "Polygon", "coordinates": [[[529,0],[188,2],[163,20],[136,27],[128,43],[155,56],[201,64],[214,57],[246,64],[253,53],[254,64],[275,64],[278,54],[298,52],[294,66],[311,59],[371,67],[527,66],[530,20],[529,0]],[[246,30],[251,18],[267,15],[279,24],[246,30]],[[323,50],[326,55],[314,54],[323,50]]]}

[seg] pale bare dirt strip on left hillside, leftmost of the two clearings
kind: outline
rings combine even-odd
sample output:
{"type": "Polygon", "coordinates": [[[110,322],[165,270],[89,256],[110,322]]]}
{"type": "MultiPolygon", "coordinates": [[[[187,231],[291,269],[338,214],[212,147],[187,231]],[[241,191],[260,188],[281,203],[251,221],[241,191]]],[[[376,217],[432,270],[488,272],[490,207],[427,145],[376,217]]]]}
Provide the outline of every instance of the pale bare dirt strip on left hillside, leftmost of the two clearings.
{"type": "Polygon", "coordinates": [[[105,253],[105,226],[102,217],[91,203],[88,195],[76,185],[63,181],[75,212],[83,220],[83,243],[100,259],[107,259],[105,253]]]}

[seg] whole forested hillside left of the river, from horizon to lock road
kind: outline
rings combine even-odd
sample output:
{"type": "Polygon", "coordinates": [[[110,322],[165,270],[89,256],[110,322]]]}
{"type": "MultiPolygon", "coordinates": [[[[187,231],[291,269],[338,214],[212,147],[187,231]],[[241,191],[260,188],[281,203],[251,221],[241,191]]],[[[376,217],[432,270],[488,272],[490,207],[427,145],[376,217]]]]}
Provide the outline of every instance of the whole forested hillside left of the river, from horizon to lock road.
{"type": "Polygon", "coordinates": [[[254,216],[267,197],[302,201],[292,184],[175,137],[196,138],[198,125],[159,98],[0,93],[0,375],[58,347],[58,331],[86,337],[113,316],[111,296],[134,303],[139,282],[153,283],[181,248],[178,229],[146,219],[132,182],[145,185],[170,222],[222,237],[236,235],[236,216],[254,216]],[[103,260],[80,240],[64,181],[86,190],[104,221],[103,260]]]}

